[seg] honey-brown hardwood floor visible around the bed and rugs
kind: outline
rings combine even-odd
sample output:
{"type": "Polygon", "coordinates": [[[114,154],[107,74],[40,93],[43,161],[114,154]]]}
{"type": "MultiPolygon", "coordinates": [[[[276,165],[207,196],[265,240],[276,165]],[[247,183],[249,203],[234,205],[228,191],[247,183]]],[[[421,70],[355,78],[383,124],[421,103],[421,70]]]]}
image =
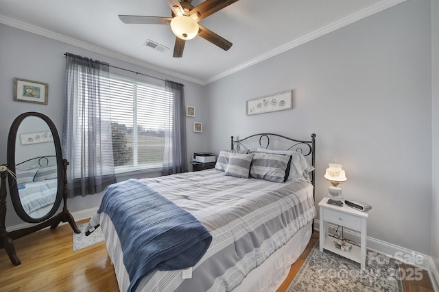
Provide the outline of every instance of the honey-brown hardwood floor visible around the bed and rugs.
{"type": "MultiPolygon", "coordinates": [[[[278,292],[286,291],[317,241],[318,233],[313,233],[278,292]]],[[[12,265],[5,250],[0,250],[0,291],[118,291],[105,243],[73,252],[69,225],[40,230],[17,239],[14,246],[21,265],[12,265]]],[[[403,281],[403,286],[404,292],[433,291],[427,272],[422,280],[403,281]]]]}

